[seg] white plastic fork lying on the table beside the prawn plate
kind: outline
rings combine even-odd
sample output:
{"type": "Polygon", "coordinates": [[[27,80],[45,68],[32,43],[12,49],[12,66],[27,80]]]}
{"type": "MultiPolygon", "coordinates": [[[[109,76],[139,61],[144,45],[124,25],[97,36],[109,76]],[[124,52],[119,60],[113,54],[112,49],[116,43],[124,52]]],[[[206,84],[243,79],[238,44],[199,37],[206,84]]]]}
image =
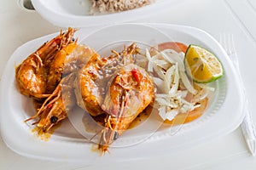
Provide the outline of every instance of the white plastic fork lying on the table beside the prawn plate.
{"type": "Polygon", "coordinates": [[[243,111],[245,111],[244,120],[241,122],[241,130],[243,133],[244,139],[247,141],[248,149],[251,151],[253,155],[256,152],[256,133],[255,128],[253,126],[253,119],[251,116],[251,112],[248,107],[248,99],[246,95],[246,89],[241,79],[241,74],[239,70],[239,62],[236,54],[236,47],[233,34],[221,34],[219,39],[220,44],[225,49],[226,53],[230,56],[230,59],[233,62],[233,65],[236,67],[237,75],[240,78],[240,82],[243,87],[243,95],[245,99],[245,105],[243,111]]]}

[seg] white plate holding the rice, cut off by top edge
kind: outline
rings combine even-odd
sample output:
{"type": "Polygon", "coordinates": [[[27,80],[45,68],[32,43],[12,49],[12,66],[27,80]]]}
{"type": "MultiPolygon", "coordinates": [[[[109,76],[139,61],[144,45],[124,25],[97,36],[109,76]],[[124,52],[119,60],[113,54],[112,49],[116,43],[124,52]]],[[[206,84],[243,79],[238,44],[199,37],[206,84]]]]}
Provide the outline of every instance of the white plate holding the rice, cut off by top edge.
{"type": "Polygon", "coordinates": [[[155,3],[143,8],[113,14],[91,15],[89,0],[32,0],[34,8],[45,20],[62,27],[102,26],[139,20],[149,14],[156,14],[165,9],[170,10],[180,2],[179,0],[155,0],[155,3]]]}

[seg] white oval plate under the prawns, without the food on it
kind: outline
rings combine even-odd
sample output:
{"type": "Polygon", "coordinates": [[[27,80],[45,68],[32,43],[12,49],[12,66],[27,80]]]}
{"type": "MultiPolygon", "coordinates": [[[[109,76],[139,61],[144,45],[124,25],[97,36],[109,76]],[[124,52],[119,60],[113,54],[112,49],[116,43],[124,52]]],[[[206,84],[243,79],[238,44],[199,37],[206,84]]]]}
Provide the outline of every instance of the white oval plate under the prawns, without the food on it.
{"type": "MultiPolygon", "coordinates": [[[[176,150],[185,150],[197,144],[203,144],[209,139],[216,139],[235,130],[244,117],[241,85],[224,49],[207,32],[196,28],[163,24],[145,25],[165,32],[174,41],[201,45],[211,50],[221,60],[224,66],[224,77],[213,84],[216,87],[214,99],[203,116],[183,125],[177,131],[161,127],[145,142],[131,147],[110,148],[111,154],[105,154],[105,156],[99,156],[92,151],[92,144],[87,143],[68,121],[63,122],[61,127],[56,129],[49,141],[39,139],[32,133],[30,123],[23,122],[26,117],[32,116],[34,111],[30,99],[22,96],[15,87],[15,66],[42,43],[55,37],[55,33],[26,42],[17,48],[3,72],[0,88],[0,126],[3,140],[9,148],[22,156],[53,161],[82,161],[84,164],[90,164],[173,153],[176,150]]],[[[77,35],[86,37],[88,33],[90,33],[88,30],[81,29],[77,35]]]]}

